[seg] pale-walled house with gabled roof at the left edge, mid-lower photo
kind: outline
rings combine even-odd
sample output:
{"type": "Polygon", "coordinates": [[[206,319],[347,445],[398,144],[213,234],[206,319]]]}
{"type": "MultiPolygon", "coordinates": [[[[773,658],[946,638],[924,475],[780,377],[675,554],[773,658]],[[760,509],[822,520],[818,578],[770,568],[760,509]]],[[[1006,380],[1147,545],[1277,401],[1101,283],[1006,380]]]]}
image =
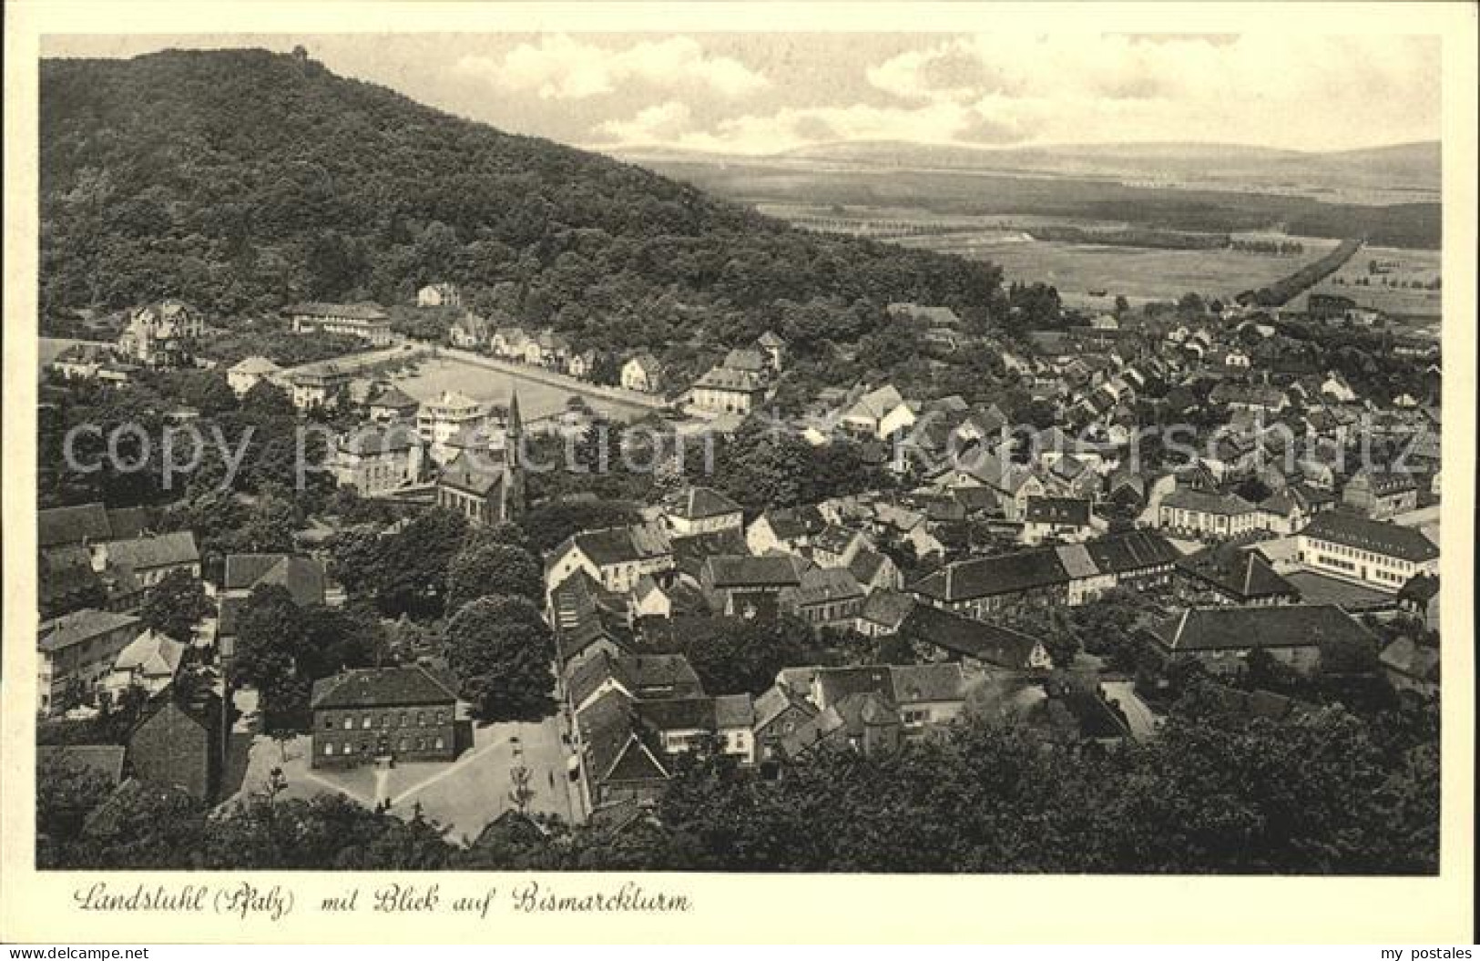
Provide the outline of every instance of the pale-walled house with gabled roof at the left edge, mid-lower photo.
{"type": "Polygon", "coordinates": [[[78,610],[43,620],[36,632],[36,711],[61,714],[73,696],[89,697],[123,649],[139,635],[139,619],[105,610],[78,610]]]}

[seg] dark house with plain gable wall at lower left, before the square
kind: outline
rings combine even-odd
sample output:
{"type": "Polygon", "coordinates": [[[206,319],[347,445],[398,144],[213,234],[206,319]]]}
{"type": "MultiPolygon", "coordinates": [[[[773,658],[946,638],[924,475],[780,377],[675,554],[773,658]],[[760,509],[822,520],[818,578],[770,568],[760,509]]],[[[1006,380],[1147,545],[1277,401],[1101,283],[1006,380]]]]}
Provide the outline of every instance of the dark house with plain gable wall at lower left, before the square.
{"type": "Polygon", "coordinates": [[[127,767],[141,782],[215,801],[221,783],[221,697],[185,705],[157,694],[129,731],[127,767]]]}

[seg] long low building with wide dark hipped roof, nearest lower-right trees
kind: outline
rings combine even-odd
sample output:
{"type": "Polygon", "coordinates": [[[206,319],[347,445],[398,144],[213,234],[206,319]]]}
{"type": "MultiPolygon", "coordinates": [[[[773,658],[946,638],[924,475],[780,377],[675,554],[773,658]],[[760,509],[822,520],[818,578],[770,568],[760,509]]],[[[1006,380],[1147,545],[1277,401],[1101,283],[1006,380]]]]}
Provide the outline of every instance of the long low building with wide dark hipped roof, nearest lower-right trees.
{"type": "Polygon", "coordinates": [[[1310,674],[1320,663],[1322,644],[1376,643],[1335,604],[1193,607],[1154,625],[1150,638],[1165,656],[1194,657],[1217,674],[1242,671],[1255,650],[1310,674]]]}

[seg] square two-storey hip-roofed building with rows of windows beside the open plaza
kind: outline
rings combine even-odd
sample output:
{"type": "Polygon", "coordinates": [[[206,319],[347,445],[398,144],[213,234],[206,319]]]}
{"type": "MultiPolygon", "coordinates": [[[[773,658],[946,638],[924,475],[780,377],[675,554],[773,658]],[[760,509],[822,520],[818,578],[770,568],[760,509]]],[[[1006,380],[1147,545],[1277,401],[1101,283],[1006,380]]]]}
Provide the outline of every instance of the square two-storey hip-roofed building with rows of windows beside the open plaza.
{"type": "Polygon", "coordinates": [[[314,681],[311,767],[457,757],[457,694],[423,665],[358,668],[314,681]]]}

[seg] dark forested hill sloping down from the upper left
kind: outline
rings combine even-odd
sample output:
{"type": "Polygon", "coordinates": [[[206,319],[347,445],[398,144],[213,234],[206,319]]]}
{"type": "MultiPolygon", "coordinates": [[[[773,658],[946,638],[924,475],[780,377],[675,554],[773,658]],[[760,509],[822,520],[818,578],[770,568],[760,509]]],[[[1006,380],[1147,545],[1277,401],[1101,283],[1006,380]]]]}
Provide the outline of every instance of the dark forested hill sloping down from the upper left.
{"type": "Polygon", "coordinates": [[[50,314],[181,296],[229,324],[451,280],[632,348],[851,339],[898,299],[986,323],[1000,296],[990,265],[805,234],[265,50],[46,61],[40,154],[50,314]]]}

